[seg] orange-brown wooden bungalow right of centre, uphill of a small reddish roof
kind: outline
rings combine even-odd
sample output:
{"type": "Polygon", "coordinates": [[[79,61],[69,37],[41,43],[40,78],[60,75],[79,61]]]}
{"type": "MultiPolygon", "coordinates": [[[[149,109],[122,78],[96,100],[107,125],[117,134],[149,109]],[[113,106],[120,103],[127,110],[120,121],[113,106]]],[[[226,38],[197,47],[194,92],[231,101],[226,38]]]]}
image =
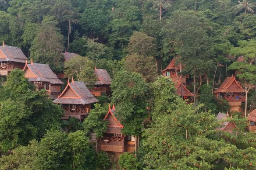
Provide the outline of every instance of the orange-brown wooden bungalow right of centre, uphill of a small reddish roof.
{"type": "MultiPolygon", "coordinates": [[[[172,59],[169,65],[161,71],[163,76],[171,77],[171,79],[176,83],[180,82],[181,76],[179,76],[178,73],[181,72],[184,67],[181,67],[181,63],[176,63],[177,59],[178,57],[172,59]]],[[[188,76],[182,76],[182,83],[186,83],[187,78],[188,76]]]]}

